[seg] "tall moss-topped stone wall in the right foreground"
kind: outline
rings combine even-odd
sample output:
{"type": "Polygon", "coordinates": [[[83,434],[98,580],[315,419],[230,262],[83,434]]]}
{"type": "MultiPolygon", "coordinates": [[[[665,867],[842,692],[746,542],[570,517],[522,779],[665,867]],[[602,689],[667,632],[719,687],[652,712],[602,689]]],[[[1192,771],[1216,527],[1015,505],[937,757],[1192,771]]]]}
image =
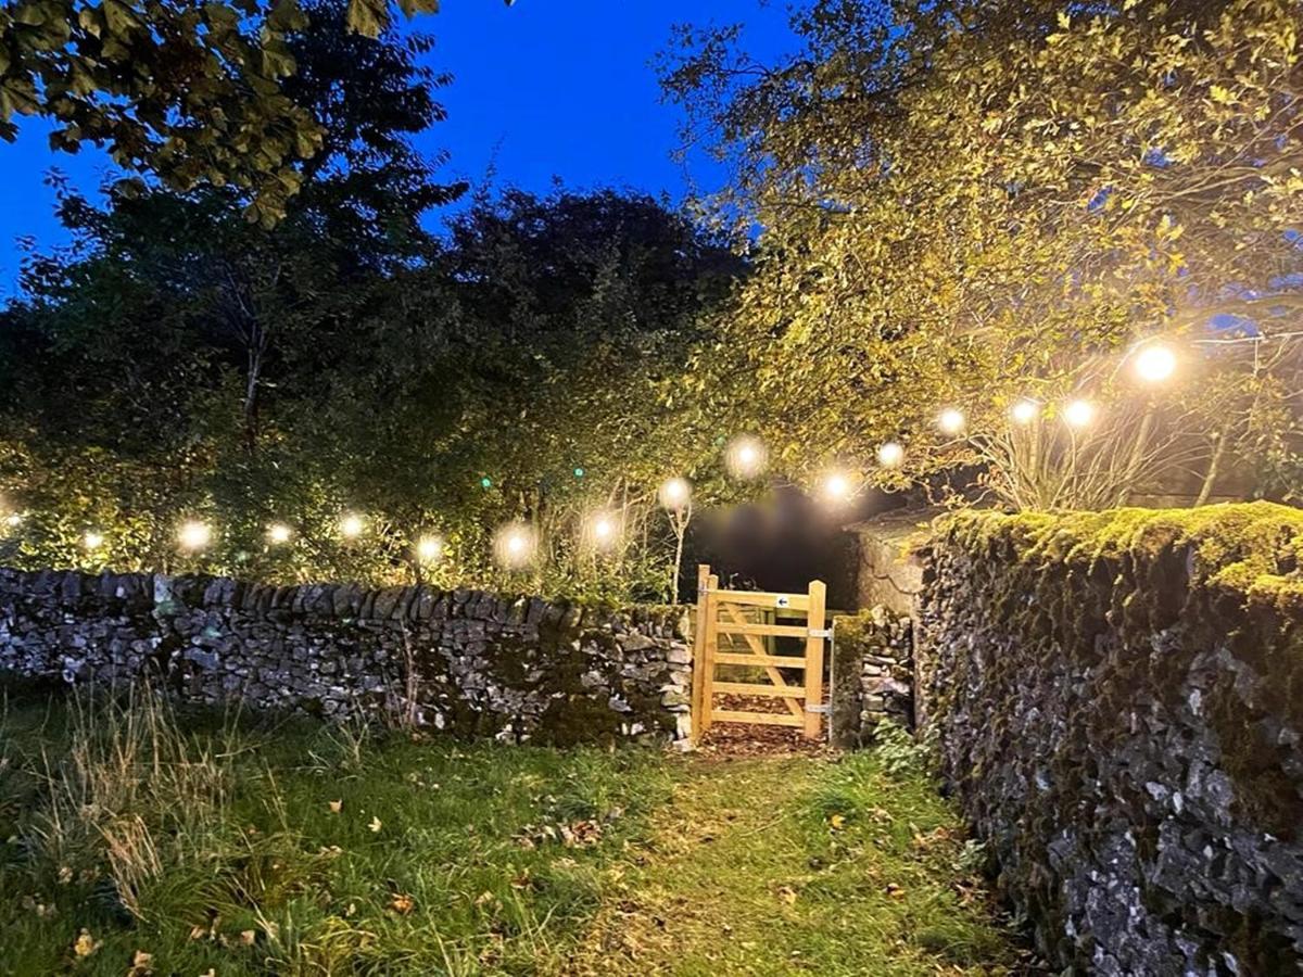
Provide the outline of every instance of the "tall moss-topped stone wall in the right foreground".
{"type": "Polygon", "coordinates": [[[966,513],[916,633],[946,778],[1061,967],[1303,967],[1303,512],[966,513]]]}

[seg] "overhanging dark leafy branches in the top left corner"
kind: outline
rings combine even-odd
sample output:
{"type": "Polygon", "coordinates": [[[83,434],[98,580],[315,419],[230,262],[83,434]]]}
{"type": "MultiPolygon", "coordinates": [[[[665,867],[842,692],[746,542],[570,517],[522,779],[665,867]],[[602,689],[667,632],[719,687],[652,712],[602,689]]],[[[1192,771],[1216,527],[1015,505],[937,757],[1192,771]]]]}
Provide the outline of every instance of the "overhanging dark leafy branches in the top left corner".
{"type": "MultiPolygon", "coordinates": [[[[399,7],[412,16],[438,3],[399,7]]],[[[380,36],[388,0],[351,0],[347,18],[380,36]]],[[[102,146],[173,190],[232,186],[270,225],[328,128],[284,85],[301,53],[289,35],[304,26],[297,0],[10,0],[0,7],[0,138],[14,138],[16,116],[46,116],[53,149],[102,146]]]]}

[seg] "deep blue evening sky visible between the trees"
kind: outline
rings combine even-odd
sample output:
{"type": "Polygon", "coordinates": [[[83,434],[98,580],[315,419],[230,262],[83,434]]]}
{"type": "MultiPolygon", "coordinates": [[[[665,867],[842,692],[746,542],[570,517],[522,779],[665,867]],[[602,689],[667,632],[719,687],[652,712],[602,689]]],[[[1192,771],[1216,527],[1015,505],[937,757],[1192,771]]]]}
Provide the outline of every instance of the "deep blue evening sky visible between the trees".
{"type": "MultiPolygon", "coordinates": [[[[747,23],[747,47],[769,59],[791,44],[786,5],[765,0],[446,0],[416,26],[438,43],[430,66],[453,83],[440,92],[448,120],[420,139],[452,158],[442,171],[474,184],[546,191],[554,177],[576,189],[601,185],[668,193],[713,189],[719,173],[670,159],[678,109],[659,103],[649,65],[675,23],[747,23]]],[[[20,237],[40,248],[66,240],[53,219],[52,167],[94,189],[104,154],[51,152],[47,126],[21,120],[20,138],[0,142],[0,296],[12,294],[20,237]]]]}

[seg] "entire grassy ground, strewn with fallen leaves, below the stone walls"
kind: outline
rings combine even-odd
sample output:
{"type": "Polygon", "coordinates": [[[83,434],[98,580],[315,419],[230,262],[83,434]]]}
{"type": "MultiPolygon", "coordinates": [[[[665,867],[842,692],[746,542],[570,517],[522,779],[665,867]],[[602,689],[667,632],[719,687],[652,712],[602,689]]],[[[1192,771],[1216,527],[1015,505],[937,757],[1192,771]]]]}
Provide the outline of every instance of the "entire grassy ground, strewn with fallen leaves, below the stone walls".
{"type": "Polygon", "coordinates": [[[0,977],[1016,970],[971,856],[869,753],[0,709],[0,977]]]}

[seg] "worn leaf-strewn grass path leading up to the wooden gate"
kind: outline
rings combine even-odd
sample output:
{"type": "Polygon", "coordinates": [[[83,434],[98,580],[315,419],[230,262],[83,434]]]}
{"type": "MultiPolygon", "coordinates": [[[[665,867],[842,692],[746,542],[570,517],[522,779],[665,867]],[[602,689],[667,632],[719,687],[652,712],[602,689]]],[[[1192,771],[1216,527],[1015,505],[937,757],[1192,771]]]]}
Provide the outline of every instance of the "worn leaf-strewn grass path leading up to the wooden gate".
{"type": "Polygon", "coordinates": [[[692,758],[575,974],[1010,973],[952,815],[869,756],[692,758]]]}

